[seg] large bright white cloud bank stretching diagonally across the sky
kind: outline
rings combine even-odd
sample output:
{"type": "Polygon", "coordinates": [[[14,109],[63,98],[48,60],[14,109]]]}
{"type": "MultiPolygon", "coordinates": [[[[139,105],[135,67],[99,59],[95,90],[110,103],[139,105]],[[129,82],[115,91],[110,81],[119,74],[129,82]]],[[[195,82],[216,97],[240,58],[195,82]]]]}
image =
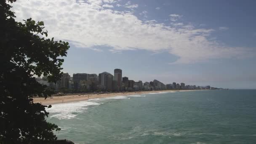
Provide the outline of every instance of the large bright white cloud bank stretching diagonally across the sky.
{"type": "MultiPolygon", "coordinates": [[[[129,11],[104,9],[103,4],[101,0],[19,0],[13,3],[12,9],[18,21],[30,17],[44,21],[48,37],[96,51],[100,51],[95,49],[99,45],[110,47],[111,51],[168,51],[179,57],[176,63],[255,56],[255,50],[229,47],[210,40],[208,37],[213,29],[141,21],[129,11]]],[[[177,14],[170,17],[181,18],[177,14]]]]}

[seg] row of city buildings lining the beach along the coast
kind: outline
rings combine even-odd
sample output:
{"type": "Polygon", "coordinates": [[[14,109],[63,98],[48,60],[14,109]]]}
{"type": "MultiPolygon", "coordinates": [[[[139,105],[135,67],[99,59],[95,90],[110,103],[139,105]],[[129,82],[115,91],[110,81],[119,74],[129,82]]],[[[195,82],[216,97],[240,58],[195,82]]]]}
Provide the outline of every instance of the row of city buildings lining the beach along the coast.
{"type": "Polygon", "coordinates": [[[94,92],[94,91],[153,91],[153,90],[180,90],[180,89],[216,89],[211,86],[185,85],[185,83],[163,84],[158,80],[142,83],[135,82],[128,77],[122,77],[122,69],[115,69],[114,75],[108,72],[97,74],[77,73],[70,77],[64,73],[57,83],[49,83],[47,77],[37,77],[37,82],[55,91],[63,92],[94,92]]]}

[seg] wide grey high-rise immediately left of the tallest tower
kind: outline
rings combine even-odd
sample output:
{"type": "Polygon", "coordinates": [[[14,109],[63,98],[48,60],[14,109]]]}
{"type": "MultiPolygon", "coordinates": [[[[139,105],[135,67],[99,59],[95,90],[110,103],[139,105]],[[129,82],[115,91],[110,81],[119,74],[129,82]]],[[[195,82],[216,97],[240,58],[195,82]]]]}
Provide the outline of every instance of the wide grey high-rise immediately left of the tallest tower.
{"type": "Polygon", "coordinates": [[[113,75],[108,72],[99,74],[99,88],[103,90],[112,90],[113,75]]]}

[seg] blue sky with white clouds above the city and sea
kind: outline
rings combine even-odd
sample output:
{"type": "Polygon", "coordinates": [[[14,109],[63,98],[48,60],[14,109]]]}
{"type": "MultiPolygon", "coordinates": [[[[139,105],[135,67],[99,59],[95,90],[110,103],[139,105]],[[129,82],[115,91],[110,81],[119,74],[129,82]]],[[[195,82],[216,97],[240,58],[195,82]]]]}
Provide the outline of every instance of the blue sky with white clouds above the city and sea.
{"type": "Polygon", "coordinates": [[[69,42],[63,71],[123,70],[130,80],[256,88],[255,0],[17,0],[69,42]]]}

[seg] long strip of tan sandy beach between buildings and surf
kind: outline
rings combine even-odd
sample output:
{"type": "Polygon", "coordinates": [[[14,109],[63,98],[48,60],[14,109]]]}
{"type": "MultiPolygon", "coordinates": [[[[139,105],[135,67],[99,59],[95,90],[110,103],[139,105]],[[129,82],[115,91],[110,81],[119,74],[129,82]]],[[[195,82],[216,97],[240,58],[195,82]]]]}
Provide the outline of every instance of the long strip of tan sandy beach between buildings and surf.
{"type": "Polygon", "coordinates": [[[69,103],[69,102],[77,102],[77,101],[87,101],[89,99],[96,98],[107,98],[114,96],[129,96],[136,94],[147,94],[147,93],[171,93],[175,91],[205,91],[205,90],[163,90],[163,91],[135,91],[135,92],[120,92],[120,93],[101,93],[101,94],[80,94],[77,95],[67,95],[67,96],[52,96],[51,98],[32,98],[34,103],[41,103],[43,105],[50,104],[61,104],[61,103],[69,103]]]}

